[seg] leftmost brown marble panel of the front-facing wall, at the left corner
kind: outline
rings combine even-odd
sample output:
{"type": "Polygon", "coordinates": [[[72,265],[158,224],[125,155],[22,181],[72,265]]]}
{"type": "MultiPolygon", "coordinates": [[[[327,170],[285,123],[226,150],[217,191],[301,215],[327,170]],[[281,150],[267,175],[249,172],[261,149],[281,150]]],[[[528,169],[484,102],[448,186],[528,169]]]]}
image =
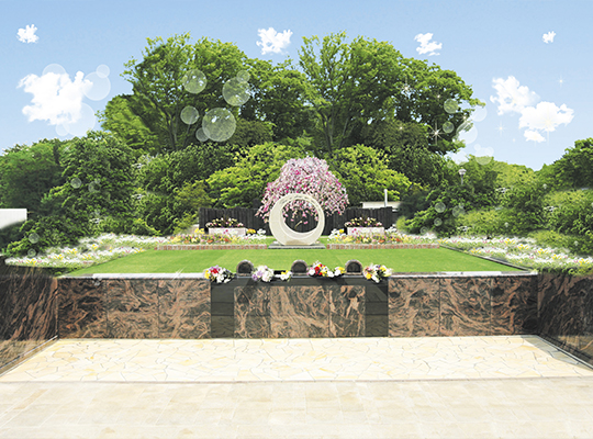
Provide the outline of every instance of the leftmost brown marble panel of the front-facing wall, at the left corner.
{"type": "Polygon", "coordinates": [[[60,338],[108,336],[103,282],[89,278],[58,279],[60,338]]]}

